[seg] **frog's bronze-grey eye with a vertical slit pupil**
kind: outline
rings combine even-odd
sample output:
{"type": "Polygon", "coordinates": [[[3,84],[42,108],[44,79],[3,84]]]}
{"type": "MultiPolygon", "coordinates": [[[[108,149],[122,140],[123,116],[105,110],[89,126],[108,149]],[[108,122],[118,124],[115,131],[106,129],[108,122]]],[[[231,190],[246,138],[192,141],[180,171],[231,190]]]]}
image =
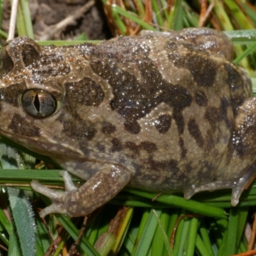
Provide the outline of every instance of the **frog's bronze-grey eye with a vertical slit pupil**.
{"type": "Polygon", "coordinates": [[[29,115],[38,118],[51,116],[57,108],[57,100],[51,93],[37,89],[23,93],[21,103],[29,115]]]}

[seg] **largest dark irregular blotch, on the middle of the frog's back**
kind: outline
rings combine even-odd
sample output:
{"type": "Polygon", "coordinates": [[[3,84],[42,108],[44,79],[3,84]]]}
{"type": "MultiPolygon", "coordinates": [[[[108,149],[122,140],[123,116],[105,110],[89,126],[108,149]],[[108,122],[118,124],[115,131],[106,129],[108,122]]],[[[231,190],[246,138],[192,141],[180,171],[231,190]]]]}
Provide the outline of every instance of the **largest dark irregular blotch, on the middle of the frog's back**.
{"type": "MultiPolygon", "coordinates": [[[[164,80],[156,63],[147,57],[148,51],[141,49],[141,42],[138,42],[138,45],[134,45],[135,43],[125,43],[125,49],[121,48],[121,52],[116,52],[115,44],[112,44],[109,47],[112,51],[110,54],[106,49],[99,48],[97,52],[100,60],[95,52],[90,56],[90,67],[93,72],[106,79],[113,88],[114,98],[109,102],[111,108],[124,116],[125,129],[131,134],[140,132],[141,127],[137,120],[162,102],[177,109],[180,116],[182,109],[190,106],[192,102],[189,91],[180,84],[173,85],[164,80]],[[138,55],[132,54],[131,58],[131,54],[128,54],[121,58],[125,52],[133,52],[136,47],[140,49],[138,55]],[[132,72],[127,72],[127,66],[134,67],[134,73],[139,72],[141,79],[138,80],[132,72]]],[[[167,129],[168,122],[166,119],[166,126],[162,125],[161,129],[159,127],[160,131],[164,132],[167,129]]],[[[182,131],[183,122],[178,122],[181,125],[179,131],[182,131]]]]}

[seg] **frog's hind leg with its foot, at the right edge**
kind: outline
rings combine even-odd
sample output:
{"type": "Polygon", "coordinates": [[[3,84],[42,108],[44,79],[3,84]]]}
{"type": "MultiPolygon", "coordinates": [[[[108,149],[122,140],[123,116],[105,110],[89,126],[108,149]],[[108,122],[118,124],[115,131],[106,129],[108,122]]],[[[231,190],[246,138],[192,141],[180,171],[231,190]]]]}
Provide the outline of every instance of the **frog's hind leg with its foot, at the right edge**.
{"type": "Polygon", "coordinates": [[[199,191],[232,188],[232,205],[237,205],[244,188],[256,176],[256,97],[244,100],[237,108],[232,136],[221,163],[214,173],[214,181],[185,191],[191,198],[199,191]]]}

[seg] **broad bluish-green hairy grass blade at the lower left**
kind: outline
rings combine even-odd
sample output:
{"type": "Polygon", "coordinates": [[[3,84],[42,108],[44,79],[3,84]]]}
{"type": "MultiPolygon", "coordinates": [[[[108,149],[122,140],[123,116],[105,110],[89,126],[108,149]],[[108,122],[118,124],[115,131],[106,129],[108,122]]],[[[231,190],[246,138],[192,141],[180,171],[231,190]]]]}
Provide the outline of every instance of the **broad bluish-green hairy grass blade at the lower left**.
{"type": "MultiPolygon", "coordinates": [[[[17,169],[23,164],[20,154],[3,143],[0,144],[0,156],[3,168],[17,169]]],[[[15,188],[7,188],[7,191],[22,252],[35,255],[36,230],[31,204],[24,191],[15,188]]]]}

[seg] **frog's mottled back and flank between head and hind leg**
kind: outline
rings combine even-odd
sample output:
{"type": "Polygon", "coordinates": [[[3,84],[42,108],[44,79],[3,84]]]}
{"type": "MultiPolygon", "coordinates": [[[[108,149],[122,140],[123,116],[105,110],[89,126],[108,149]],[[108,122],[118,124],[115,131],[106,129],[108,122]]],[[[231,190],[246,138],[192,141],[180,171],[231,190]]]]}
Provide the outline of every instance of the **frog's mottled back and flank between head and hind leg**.
{"type": "Polygon", "coordinates": [[[93,140],[102,152],[95,156],[127,166],[138,188],[167,191],[213,179],[236,109],[252,93],[243,71],[165,36],[120,37],[88,59],[110,106],[97,124],[102,132],[93,140]]]}

